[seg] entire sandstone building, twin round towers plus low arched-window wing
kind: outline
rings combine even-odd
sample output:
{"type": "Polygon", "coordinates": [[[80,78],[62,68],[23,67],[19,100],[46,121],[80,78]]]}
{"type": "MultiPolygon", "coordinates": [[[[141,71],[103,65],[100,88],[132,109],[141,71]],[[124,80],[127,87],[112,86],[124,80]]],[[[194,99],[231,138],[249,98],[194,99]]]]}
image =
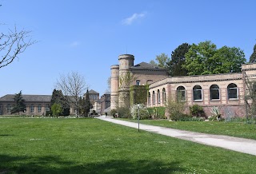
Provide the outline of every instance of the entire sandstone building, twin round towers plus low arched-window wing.
{"type": "Polygon", "coordinates": [[[117,104],[127,105],[124,99],[130,98],[131,85],[149,84],[147,107],[165,106],[168,100],[177,100],[179,96],[187,106],[201,105],[206,115],[214,106],[222,115],[246,115],[246,81],[256,78],[256,64],[242,65],[241,73],[168,77],[166,69],[145,62],[134,65],[133,55],[120,55],[118,60],[119,65],[111,66],[111,109],[116,109],[117,104]],[[124,83],[126,76],[133,78],[124,83]]]}

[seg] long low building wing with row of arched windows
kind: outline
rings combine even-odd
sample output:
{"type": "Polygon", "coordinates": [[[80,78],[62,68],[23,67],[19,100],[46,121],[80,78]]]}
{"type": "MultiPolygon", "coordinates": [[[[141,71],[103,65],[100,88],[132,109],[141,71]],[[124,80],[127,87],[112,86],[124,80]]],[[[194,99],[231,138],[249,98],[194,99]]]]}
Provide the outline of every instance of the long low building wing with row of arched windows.
{"type": "Polygon", "coordinates": [[[187,106],[201,105],[208,116],[213,107],[218,107],[224,117],[243,117],[246,82],[254,81],[255,76],[256,64],[246,64],[241,73],[167,77],[149,86],[147,106],[165,106],[168,100],[179,100],[187,106]]]}

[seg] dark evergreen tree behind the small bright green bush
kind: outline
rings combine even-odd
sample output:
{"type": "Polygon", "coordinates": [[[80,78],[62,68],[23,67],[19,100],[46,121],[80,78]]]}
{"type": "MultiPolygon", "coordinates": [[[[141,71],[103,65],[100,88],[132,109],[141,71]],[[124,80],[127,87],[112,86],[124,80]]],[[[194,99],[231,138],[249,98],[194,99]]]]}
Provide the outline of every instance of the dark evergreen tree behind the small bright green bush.
{"type": "Polygon", "coordinates": [[[59,104],[62,106],[62,113],[60,113],[60,115],[62,116],[70,115],[70,106],[66,98],[63,96],[62,90],[54,89],[51,100],[50,100],[50,108],[54,104],[59,104]]]}

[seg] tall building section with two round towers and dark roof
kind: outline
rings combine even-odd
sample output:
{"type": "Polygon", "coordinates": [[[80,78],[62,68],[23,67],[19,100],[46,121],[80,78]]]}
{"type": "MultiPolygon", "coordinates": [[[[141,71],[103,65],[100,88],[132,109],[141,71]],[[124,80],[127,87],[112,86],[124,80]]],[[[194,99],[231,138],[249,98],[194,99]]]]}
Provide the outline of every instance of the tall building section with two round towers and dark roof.
{"type": "Polygon", "coordinates": [[[110,109],[130,106],[130,86],[149,85],[168,77],[167,69],[142,62],[134,65],[134,56],[122,54],[119,65],[111,66],[110,109]]]}

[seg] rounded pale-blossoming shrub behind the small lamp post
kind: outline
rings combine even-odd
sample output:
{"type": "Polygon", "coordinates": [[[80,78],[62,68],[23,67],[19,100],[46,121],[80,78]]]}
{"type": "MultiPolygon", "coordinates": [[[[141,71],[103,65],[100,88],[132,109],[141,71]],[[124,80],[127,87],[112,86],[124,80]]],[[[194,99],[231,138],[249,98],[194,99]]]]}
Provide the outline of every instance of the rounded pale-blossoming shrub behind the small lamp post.
{"type": "Polygon", "coordinates": [[[141,120],[149,119],[150,114],[144,104],[133,105],[130,108],[130,114],[133,119],[138,119],[138,106],[139,106],[139,117],[141,120]]]}

